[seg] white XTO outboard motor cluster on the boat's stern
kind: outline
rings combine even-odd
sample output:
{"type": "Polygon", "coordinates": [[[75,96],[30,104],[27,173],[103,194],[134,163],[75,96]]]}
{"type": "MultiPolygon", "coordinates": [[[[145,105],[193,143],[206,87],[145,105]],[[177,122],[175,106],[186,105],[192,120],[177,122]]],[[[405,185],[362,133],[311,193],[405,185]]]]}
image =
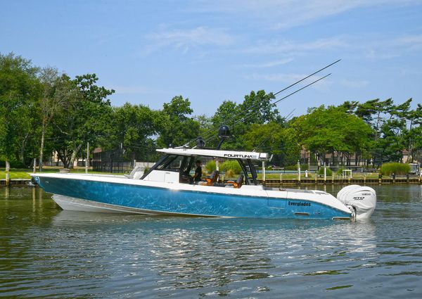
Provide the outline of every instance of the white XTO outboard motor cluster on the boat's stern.
{"type": "Polygon", "coordinates": [[[369,219],[376,207],[376,192],[367,186],[345,186],[338,191],[337,199],[352,210],[355,220],[369,219]]]}

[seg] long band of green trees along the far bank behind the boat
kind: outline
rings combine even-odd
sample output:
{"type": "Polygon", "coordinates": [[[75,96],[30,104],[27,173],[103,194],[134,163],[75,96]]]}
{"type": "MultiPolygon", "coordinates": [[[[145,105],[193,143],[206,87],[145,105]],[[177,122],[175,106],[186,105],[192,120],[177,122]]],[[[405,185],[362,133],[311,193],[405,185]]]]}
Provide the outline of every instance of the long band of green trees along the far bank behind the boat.
{"type": "Polygon", "coordinates": [[[29,165],[56,151],[69,167],[87,142],[105,149],[122,144],[127,158],[152,155],[157,146],[181,146],[197,136],[212,148],[221,125],[232,135],[222,149],[269,152],[278,165],[295,165],[301,150],[321,158],[331,153],[334,163],[346,165],[352,154],[357,162],[373,158],[376,165],[422,160],[422,105],[412,108],[412,98],[399,104],[392,98],[346,101],[310,108],[287,122],[271,102],[274,95],[264,90],[251,91],[239,104],[224,101],[207,117],[193,116],[182,96],[162,110],[129,103],[113,108],[108,96],[114,91],[97,82],[94,74],[71,79],[13,53],[0,54],[0,160],[29,165]]]}

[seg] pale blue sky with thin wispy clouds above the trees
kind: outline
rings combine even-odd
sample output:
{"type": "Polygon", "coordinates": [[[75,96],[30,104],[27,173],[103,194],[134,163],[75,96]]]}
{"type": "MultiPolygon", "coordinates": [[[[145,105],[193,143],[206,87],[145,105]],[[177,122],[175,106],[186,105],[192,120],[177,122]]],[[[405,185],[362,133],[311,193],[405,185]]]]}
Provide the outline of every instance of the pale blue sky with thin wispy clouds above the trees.
{"type": "Polygon", "coordinates": [[[162,108],[174,96],[193,115],[223,101],[279,91],[282,116],[393,98],[422,103],[422,0],[0,0],[0,53],[71,77],[95,73],[123,103],[162,108]]]}

